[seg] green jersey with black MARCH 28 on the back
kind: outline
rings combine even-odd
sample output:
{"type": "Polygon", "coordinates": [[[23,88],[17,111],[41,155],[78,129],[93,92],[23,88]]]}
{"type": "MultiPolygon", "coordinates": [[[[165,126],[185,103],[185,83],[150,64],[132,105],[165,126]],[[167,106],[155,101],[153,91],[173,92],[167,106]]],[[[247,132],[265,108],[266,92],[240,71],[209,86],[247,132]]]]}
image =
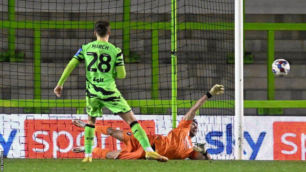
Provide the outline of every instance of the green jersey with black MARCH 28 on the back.
{"type": "Polygon", "coordinates": [[[87,95],[105,97],[118,92],[115,68],[124,65],[121,49],[105,41],[84,44],[73,56],[86,64],[87,95]]]}

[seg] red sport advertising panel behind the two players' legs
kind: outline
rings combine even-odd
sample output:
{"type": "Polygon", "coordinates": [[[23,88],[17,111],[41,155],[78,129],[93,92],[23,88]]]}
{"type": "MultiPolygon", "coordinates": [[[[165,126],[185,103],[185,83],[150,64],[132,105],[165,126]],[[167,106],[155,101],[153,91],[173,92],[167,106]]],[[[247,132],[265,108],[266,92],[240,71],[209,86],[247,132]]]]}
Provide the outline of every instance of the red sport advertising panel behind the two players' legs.
{"type": "MultiPolygon", "coordinates": [[[[139,121],[148,135],[155,134],[153,120],[139,121]]],[[[122,120],[98,120],[96,125],[109,125],[114,129],[130,130],[122,120]]],[[[73,153],[71,148],[84,145],[84,129],[76,127],[71,120],[25,120],[26,158],[83,158],[83,153],[73,153]]],[[[124,144],[111,136],[95,133],[94,144],[99,148],[117,150],[124,144]]],[[[98,155],[93,154],[94,158],[98,155]]]]}

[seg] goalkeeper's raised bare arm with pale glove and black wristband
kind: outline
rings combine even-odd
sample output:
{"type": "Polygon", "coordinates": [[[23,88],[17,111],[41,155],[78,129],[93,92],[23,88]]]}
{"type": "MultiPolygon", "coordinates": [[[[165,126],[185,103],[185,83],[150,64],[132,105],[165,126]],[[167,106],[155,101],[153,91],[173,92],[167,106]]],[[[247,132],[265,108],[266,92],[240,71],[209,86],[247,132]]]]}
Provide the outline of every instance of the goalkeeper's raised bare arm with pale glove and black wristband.
{"type": "Polygon", "coordinates": [[[200,107],[203,106],[203,104],[211,98],[213,95],[221,95],[224,92],[223,85],[216,84],[213,88],[211,88],[210,92],[207,92],[201,99],[199,99],[187,112],[187,114],[183,117],[184,120],[193,120],[196,116],[196,111],[200,109],[200,107]]]}

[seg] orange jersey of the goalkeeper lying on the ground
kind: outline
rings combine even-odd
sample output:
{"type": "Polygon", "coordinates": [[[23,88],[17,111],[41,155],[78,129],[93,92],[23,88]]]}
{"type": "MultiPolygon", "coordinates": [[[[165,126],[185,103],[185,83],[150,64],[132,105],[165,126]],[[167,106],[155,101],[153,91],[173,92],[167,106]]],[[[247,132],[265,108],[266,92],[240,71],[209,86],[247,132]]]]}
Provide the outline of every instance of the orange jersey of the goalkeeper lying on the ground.
{"type": "Polygon", "coordinates": [[[155,150],[168,159],[196,159],[197,152],[192,149],[192,141],[189,137],[192,121],[181,120],[177,128],[169,132],[167,136],[157,135],[155,150]]]}

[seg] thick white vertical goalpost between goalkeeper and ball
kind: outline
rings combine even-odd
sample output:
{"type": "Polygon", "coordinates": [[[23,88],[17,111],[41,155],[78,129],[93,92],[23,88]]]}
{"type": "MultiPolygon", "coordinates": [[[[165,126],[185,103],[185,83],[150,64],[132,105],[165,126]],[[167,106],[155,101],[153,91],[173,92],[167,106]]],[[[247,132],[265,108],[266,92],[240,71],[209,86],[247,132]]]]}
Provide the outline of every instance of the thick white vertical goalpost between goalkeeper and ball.
{"type": "Polygon", "coordinates": [[[243,159],[243,0],[235,0],[235,159],[243,159]]]}

